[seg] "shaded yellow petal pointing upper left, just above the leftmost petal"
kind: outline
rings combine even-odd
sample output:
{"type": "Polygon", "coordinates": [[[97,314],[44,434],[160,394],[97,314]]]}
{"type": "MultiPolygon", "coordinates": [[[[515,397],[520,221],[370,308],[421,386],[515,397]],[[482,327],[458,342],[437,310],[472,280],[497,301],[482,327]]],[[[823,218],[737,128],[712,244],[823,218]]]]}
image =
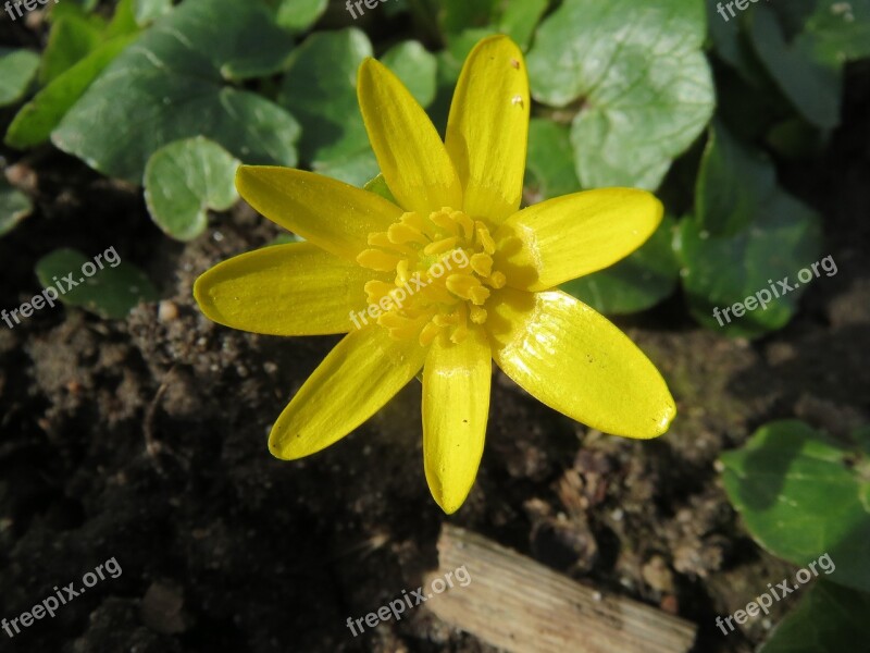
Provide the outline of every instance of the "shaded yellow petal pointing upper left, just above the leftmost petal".
{"type": "Polygon", "coordinates": [[[356,261],[370,233],[401,217],[383,197],[313,172],[272,165],[241,165],[239,195],[272,222],[335,256],[356,261]]]}

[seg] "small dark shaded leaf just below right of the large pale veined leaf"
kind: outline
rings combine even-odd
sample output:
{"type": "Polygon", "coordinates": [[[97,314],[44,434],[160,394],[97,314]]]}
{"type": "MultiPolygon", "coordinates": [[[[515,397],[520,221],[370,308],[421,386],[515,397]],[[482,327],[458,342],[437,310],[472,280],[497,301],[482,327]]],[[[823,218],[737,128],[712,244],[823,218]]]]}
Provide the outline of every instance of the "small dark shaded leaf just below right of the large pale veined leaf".
{"type": "Polygon", "coordinates": [[[776,173],[770,160],[738,143],[716,122],[695,187],[695,218],[700,226],[712,236],[736,234],[775,190],[776,173]]]}

